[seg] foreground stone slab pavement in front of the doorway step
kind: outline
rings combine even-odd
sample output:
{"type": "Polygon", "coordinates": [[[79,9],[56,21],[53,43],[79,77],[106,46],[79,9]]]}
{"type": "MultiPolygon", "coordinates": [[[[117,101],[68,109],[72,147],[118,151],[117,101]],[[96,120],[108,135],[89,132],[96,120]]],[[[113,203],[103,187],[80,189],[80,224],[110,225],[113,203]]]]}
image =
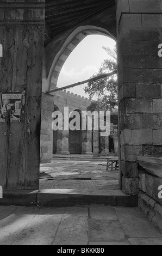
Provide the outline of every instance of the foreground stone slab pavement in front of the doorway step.
{"type": "Polygon", "coordinates": [[[138,208],[0,206],[0,245],[162,245],[162,234],[138,208]]]}

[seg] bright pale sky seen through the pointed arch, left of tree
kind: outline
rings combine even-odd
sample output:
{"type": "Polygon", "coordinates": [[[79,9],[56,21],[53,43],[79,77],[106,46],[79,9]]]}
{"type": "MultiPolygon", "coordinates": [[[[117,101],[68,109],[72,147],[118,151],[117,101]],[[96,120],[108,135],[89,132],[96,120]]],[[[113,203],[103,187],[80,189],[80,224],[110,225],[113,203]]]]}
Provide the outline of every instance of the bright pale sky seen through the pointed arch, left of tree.
{"type": "MultiPolygon", "coordinates": [[[[60,72],[57,87],[87,80],[94,75],[103,60],[108,57],[102,46],[114,48],[115,41],[104,35],[86,36],[67,58],[60,72]]],[[[68,90],[74,94],[88,97],[88,94],[84,92],[85,85],[68,90]]]]}

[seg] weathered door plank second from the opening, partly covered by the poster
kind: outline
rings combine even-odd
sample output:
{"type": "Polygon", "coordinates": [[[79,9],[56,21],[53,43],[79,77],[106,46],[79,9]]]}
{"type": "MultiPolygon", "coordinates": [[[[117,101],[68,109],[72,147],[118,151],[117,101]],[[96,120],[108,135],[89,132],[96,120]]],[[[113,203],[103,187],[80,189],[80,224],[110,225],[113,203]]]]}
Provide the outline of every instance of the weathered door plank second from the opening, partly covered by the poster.
{"type": "MultiPolygon", "coordinates": [[[[14,65],[12,91],[23,92],[26,88],[27,49],[23,44],[23,29],[16,28],[14,45],[14,65]]],[[[21,123],[10,122],[8,147],[7,188],[24,189],[26,160],[26,109],[23,109],[21,123]]]]}

